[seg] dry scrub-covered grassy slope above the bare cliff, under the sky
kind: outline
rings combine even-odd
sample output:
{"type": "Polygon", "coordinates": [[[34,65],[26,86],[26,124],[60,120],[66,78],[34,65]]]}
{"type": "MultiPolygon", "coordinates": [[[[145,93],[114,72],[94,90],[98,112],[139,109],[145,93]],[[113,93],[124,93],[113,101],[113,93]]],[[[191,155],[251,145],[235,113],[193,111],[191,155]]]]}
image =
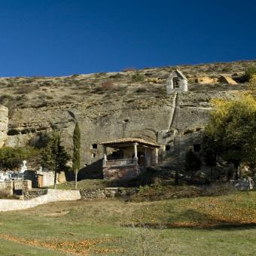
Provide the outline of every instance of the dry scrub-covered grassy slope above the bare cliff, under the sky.
{"type": "MultiPolygon", "coordinates": [[[[255,61],[210,63],[197,66],[179,66],[190,80],[197,76],[207,75],[218,77],[219,74],[241,74],[255,61]]],[[[105,101],[117,93],[114,98],[127,99],[133,96],[163,96],[165,95],[164,81],[173,67],[147,68],[142,70],[126,69],[120,73],[96,73],[89,75],[72,75],[67,77],[33,77],[33,78],[0,78],[0,102],[13,107],[40,107],[60,102],[82,102],[99,96],[98,101],[105,101]],[[135,79],[138,78],[139,79],[135,79]],[[143,79],[142,79],[143,78],[143,79]],[[162,84],[152,82],[147,84],[144,78],[162,79],[162,84]],[[134,83],[133,83],[134,81],[134,83]],[[75,92],[75,93],[74,93],[75,92]],[[69,97],[72,95],[72,97],[69,97]],[[3,99],[5,96],[5,99],[3,99]],[[13,101],[14,98],[17,98],[13,101]],[[14,104],[15,103],[15,104],[14,104]]],[[[236,74],[236,75],[237,75],[236,74]]],[[[243,85],[230,86],[223,84],[198,85],[190,84],[190,90],[245,90],[243,85]]]]}

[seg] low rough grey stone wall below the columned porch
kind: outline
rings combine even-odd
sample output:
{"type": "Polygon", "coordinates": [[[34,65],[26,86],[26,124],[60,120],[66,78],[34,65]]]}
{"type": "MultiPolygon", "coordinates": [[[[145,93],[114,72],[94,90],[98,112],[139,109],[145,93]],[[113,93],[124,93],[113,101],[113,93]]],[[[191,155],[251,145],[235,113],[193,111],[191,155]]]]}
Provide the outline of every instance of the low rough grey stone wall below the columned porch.
{"type": "Polygon", "coordinates": [[[102,189],[81,189],[81,199],[105,199],[113,197],[126,198],[138,193],[139,189],[136,187],[105,187],[102,189]]]}

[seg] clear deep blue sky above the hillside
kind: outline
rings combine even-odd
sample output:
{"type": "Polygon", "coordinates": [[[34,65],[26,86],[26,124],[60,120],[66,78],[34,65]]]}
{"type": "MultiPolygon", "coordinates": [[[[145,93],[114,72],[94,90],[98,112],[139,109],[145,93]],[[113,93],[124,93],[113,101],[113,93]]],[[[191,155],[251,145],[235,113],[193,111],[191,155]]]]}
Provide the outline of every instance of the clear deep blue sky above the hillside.
{"type": "Polygon", "coordinates": [[[256,59],[255,0],[0,0],[0,76],[256,59]]]}

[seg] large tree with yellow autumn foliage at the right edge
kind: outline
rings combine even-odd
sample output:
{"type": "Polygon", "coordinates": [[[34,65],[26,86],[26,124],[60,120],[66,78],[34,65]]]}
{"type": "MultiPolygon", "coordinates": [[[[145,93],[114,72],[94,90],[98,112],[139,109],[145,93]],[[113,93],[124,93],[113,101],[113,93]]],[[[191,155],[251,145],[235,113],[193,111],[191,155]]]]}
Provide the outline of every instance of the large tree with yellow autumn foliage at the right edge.
{"type": "Polygon", "coordinates": [[[212,138],[215,154],[234,164],[236,178],[241,163],[256,165],[256,101],[243,94],[239,99],[214,101],[206,136],[212,138]]]}

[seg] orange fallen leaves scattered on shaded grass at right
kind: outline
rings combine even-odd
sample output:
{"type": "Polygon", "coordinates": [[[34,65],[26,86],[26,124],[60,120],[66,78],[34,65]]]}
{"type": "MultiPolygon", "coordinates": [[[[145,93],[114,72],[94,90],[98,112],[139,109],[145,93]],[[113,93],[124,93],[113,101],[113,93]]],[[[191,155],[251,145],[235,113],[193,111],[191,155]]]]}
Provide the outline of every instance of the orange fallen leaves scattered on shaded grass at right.
{"type": "Polygon", "coordinates": [[[131,222],[138,227],[147,224],[149,227],[168,228],[256,224],[256,209],[243,204],[244,196],[204,197],[169,205],[148,206],[133,216],[131,222]]]}

